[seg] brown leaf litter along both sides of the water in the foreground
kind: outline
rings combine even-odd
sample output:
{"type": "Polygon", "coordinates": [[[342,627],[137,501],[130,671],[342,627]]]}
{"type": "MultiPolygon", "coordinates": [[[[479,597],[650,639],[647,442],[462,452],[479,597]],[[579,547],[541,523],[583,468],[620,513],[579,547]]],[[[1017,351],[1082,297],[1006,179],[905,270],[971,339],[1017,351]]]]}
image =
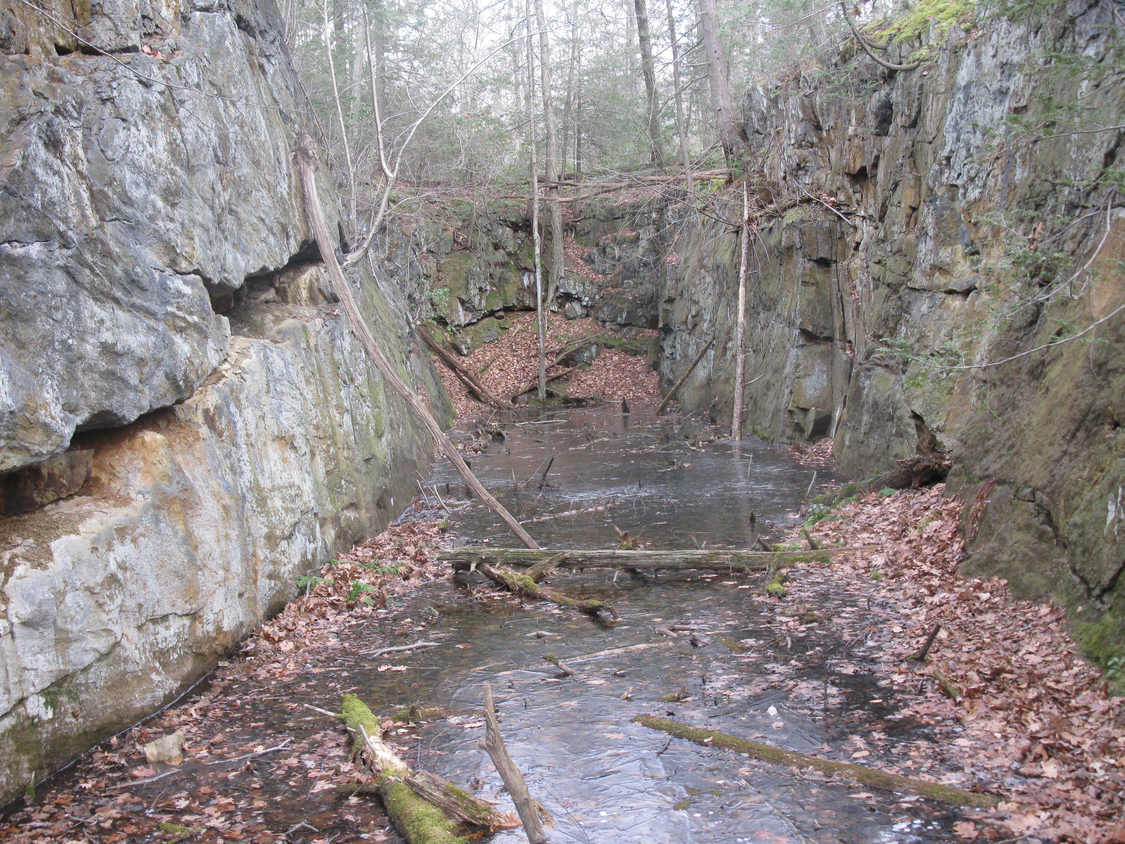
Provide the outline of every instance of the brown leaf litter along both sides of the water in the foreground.
{"type": "MultiPolygon", "coordinates": [[[[1061,609],[1017,601],[1004,581],[955,573],[960,506],[935,486],[871,493],[818,512],[809,524],[816,541],[883,549],[789,569],[788,594],[759,594],[756,605],[771,608],[782,638],[819,627],[839,641],[835,672],[875,666],[886,700],[871,703],[889,709],[838,748],[852,761],[1005,800],[997,811],[963,812],[960,839],[1125,842],[1123,701],[1079,655],[1061,609]],[[818,612],[824,595],[845,592],[858,609],[818,612]],[[935,623],[928,656],[910,662],[935,623]],[[901,719],[928,725],[929,740],[889,739],[879,727],[901,719]]],[[[348,733],[306,704],[334,710],[354,672],[368,670],[358,654],[441,631],[436,611],[412,618],[394,610],[406,593],[450,577],[430,555],[449,541],[442,526],[426,521],[433,512],[421,501],[408,514],[413,521],[400,520],[306,581],[306,594],[220,662],[206,684],[40,785],[0,819],[0,835],[14,844],[399,841],[375,800],[349,797],[357,771],[348,733]],[[146,762],[143,746],[173,730],[186,738],[183,762],[146,762]]],[[[803,541],[794,533],[793,544],[803,541]]],[[[731,581],[729,589],[738,587],[731,581]]],[[[478,601],[518,601],[489,584],[472,592],[478,601]]],[[[396,674],[407,671],[402,655],[370,659],[376,674],[408,676],[396,674]]],[[[760,683],[800,686],[784,673],[760,683]]],[[[420,724],[382,715],[403,757],[422,767],[433,761],[436,751],[413,739],[420,724]]]]}

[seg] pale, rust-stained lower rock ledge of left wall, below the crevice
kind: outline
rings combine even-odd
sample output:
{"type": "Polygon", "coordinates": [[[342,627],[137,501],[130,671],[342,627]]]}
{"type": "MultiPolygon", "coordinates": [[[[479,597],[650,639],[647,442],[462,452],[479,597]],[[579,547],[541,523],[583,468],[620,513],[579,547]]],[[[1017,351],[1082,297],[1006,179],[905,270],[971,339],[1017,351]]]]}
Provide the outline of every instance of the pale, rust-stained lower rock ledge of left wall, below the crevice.
{"type": "MultiPolygon", "coordinates": [[[[387,356],[448,419],[382,294],[387,356]]],[[[411,501],[432,442],[330,305],[248,302],[174,407],[79,434],[74,496],[0,522],[0,799],[159,708],[411,501]],[[14,545],[19,540],[18,545],[14,545]]]]}

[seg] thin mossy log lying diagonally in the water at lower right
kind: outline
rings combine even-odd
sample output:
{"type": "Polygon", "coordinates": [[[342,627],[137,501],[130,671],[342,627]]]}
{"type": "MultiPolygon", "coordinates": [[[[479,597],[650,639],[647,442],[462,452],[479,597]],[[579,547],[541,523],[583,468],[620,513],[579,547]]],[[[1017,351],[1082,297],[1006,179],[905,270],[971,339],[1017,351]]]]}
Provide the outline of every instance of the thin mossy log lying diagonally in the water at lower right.
{"type": "Polygon", "coordinates": [[[863,765],[853,765],[848,762],[832,762],[816,756],[807,756],[803,753],[783,751],[768,744],[758,744],[746,738],[728,736],[713,729],[702,729],[692,727],[680,721],[658,718],[651,715],[639,715],[633,721],[651,729],[658,729],[676,738],[686,738],[705,747],[721,747],[726,751],[735,751],[747,756],[768,762],[774,765],[785,765],[786,767],[811,767],[827,774],[844,774],[850,779],[862,782],[864,785],[918,794],[930,800],[954,803],[955,806],[972,806],[978,809],[994,809],[999,805],[999,797],[982,794],[976,791],[964,791],[951,785],[942,785],[937,782],[924,782],[911,780],[909,776],[876,771],[863,765]]]}

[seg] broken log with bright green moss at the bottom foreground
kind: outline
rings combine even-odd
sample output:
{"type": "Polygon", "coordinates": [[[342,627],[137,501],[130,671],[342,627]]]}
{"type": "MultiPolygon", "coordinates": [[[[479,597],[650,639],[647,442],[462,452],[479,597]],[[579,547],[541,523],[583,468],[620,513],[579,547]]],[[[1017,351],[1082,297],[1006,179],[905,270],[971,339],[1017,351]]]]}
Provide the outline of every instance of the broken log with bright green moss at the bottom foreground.
{"type": "Polygon", "coordinates": [[[453,783],[434,774],[412,772],[382,742],[378,720],[357,695],[344,695],[342,716],[352,733],[356,755],[374,775],[357,791],[378,793],[395,828],[410,844],[468,844],[468,838],[458,835],[457,821],[489,832],[516,825],[453,783]]]}

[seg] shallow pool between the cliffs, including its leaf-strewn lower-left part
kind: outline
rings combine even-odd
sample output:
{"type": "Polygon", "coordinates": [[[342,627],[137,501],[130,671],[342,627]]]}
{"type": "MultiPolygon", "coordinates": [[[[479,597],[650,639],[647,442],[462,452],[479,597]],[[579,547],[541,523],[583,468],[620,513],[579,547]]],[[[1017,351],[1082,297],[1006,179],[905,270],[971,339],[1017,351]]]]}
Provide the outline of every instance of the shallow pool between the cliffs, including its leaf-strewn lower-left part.
{"type": "MultiPolygon", "coordinates": [[[[613,548],[620,541],[614,528],[647,548],[747,548],[758,531],[781,539],[799,518],[814,469],[758,440],[736,446],[698,419],[656,416],[654,405],[638,402],[629,414],[616,405],[516,411],[493,425],[483,452],[468,457],[546,547],[613,548]],[[551,458],[548,484],[540,486],[551,458]]],[[[474,427],[461,436],[470,438],[474,427]]],[[[832,479],[825,468],[817,473],[818,482],[832,479]]],[[[440,519],[448,505],[454,545],[516,545],[495,514],[468,500],[448,463],[434,466],[426,495],[431,509],[412,506],[400,519],[440,519]]],[[[178,808],[173,817],[182,824],[209,817],[222,836],[258,844],[279,836],[294,844],[397,844],[375,801],[332,787],[349,739],[323,711],[339,709],[344,692],[377,713],[415,703],[448,710],[446,718],[394,725],[393,740],[412,765],[508,810],[511,800],[478,747],[484,684],[490,683],[508,749],[532,796],[554,815],[554,844],[954,841],[953,824],[964,815],[952,807],[799,774],[632,722],[651,713],[875,766],[901,761],[894,752],[920,755],[911,749],[928,740],[927,726],[896,715],[901,702],[873,671],[881,643],[894,635],[886,629],[889,608],[878,598],[872,607],[870,593],[814,565],[792,576],[810,584],[817,622],[793,618],[808,608],[767,598],[764,573],[552,575],[551,585],[572,596],[612,601],[615,621],[521,601],[478,573],[420,584],[385,609],[351,616],[327,644],[296,658],[260,667],[252,658],[219,663],[171,721],[201,725],[195,747],[210,748],[214,761],[158,764],[169,779],[110,792],[119,796],[99,811],[160,819],[178,808]],[[662,626],[690,629],[669,639],[654,629],[662,626]],[[439,645],[372,655],[420,639],[439,645]],[[641,644],[659,646],[580,659],[641,644]],[[577,676],[562,675],[546,654],[573,661],[577,676]],[[192,721],[204,711],[209,720],[192,721]],[[279,745],[284,753],[240,761],[279,745]]],[[[803,594],[809,600],[810,590],[803,594]]],[[[136,740],[160,734],[156,728],[136,740]]],[[[94,761],[112,762],[114,748],[116,738],[94,761]]],[[[80,763],[43,790],[89,788],[105,775],[98,764],[80,763]]],[[[492,838],[522,841],[521,829],[492,838]]]]}

